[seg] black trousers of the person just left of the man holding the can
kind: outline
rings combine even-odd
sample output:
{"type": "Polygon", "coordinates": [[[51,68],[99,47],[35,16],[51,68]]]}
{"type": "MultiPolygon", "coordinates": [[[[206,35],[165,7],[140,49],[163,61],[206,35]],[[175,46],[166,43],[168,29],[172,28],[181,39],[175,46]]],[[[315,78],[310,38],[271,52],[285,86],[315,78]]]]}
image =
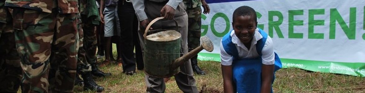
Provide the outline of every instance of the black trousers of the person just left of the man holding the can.
{"type": "Polygon", "coordinates": [[[136,61],[133,53],[135,39],[133,32],[138,31],[138,20],[132,3],[119,0],[118,17],[120,22],[120,49],[123,59],[123,72],[135,71],[136,61]]]}

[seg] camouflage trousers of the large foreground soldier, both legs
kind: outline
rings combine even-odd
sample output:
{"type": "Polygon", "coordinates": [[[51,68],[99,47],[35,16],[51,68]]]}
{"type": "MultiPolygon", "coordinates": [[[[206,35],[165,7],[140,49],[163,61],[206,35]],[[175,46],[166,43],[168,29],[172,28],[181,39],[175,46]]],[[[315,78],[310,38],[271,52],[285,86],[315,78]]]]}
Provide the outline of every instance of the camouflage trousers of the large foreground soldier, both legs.
{"type": "Polygon", "coordinates": [[[76,14],[13,7],[16,48],[24,71],[22,92],[73,92],[76,14]]]}

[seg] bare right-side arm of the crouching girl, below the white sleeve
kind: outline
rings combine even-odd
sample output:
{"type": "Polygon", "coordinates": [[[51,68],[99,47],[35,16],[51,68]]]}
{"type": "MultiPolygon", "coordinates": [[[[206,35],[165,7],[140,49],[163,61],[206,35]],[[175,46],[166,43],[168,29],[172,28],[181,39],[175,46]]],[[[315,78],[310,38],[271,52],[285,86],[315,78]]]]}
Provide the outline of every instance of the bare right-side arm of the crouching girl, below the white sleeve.
{"type": "Polygon", "coordinates": [[[274,77],[274,65],[262,64],[261,72],[261,93],[270,93],[274,77]]]}

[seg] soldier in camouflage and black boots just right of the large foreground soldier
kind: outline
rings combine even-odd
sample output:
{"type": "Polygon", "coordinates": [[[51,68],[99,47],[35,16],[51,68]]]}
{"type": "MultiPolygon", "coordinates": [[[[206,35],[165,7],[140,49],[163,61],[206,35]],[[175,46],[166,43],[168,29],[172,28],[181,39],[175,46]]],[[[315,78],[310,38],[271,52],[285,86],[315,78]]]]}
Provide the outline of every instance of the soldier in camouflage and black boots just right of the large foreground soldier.
{"type": "MultiPolygon", "coordinates": [[[[95,0],[79,0],[80,5],[78,13],[78,60],[77,60],[77,74],[76,85],[84,85],[84,90],[96,90],[96,92],[103,92],[104,88],[96,84],[90,72],[94,71],[96,65],[96,34],[95,26],[100,23],[100,16],[95,0]],[[93,6],[95,5],[95,6],[93,6]],[[93,13],[89,13],[93,12],[93,13]],[[81,15],[80,15],[81,14],[81,15]],[[86,50],[86,51],[85,51],[86,50]],[[93,64],[93,66],[91,66],[93,64]],[[81,74],[83,81],[78,76],[81,74]]],[[[101,73],[104,75],[104,73],[101,73]]]]}

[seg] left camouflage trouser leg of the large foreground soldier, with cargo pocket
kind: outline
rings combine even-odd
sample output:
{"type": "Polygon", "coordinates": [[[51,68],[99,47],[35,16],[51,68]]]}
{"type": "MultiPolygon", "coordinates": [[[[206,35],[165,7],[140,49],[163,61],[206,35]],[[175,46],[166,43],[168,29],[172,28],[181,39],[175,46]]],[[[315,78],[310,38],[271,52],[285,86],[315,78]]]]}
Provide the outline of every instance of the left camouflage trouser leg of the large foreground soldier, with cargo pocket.
{"type": "Polygon", "coordinates": [[[24,72],[22,92],[48,93],[48,59],[54,36],[54,15],[18,7],[9,11],[24,72]]]}

